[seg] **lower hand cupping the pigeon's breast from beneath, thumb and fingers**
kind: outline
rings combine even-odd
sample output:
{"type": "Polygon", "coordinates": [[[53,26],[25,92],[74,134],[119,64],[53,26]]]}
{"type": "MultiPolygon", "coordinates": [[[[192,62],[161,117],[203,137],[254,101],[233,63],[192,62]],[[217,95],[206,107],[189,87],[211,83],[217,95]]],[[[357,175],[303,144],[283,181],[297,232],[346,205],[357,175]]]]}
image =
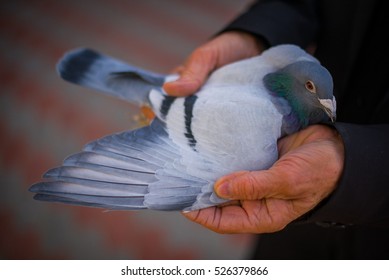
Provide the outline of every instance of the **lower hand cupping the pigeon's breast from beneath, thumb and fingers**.
{"type": "Polygon", "coordinates": [[[278,142],[279,160],[268,170],[220,178],[216,193],[238,205],[184,215],[219,233],[266,233],[283,229],[331,194],[343,170],[343,141],[335,129],[313,125],[278,142]]]}

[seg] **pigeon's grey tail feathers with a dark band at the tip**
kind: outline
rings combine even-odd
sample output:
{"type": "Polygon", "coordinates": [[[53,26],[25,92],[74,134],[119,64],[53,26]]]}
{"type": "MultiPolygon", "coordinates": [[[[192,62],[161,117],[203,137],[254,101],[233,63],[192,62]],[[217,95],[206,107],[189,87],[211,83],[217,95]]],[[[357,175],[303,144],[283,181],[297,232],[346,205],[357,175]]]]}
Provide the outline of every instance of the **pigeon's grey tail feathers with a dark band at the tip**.
{"type": "Polygon", "coordinates": [[[97,89],[137,105],[148,104],[152,89],[160,89],[165,75],[146,71],[91,49],[75,49],[57,64],[66,81],[97,89]]]}

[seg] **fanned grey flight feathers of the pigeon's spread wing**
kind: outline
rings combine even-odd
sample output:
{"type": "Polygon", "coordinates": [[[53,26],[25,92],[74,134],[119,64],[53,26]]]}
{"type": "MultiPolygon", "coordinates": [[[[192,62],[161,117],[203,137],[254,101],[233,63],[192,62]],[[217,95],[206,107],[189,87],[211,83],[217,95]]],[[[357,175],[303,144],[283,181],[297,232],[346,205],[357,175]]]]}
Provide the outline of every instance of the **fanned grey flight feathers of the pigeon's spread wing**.
{"type": "Polygon", "coordinates": [[[107,209],[191,210],[217,204],[213,182],[185,174],[159,120],[94,141],[30,188],[38,200],[107,209]]]}

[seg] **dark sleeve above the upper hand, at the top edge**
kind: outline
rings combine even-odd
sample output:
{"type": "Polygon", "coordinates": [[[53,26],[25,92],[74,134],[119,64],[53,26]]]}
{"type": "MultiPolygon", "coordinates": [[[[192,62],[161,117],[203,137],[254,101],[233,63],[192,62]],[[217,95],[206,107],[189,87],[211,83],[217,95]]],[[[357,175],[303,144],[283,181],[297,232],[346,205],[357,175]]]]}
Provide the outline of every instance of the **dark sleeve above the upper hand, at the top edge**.
{"type": "Polygon", "coordinates": [[[258,1],[223,31],[251,33],[267,45],[296,44],[307,47],[318,31],[315,1],[258,1]]]}

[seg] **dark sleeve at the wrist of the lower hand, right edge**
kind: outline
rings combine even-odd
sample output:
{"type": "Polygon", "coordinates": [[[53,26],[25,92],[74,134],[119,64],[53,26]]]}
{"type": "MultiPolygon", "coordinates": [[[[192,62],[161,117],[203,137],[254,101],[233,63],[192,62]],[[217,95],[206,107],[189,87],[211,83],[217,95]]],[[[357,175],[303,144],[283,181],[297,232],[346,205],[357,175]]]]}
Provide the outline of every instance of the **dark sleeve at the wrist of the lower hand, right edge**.
{"type": "Polygon", "coordinates": [[[389,125],[338,123],[345,164],[340,182],[306,221],[389,225],[389,125]]]}

